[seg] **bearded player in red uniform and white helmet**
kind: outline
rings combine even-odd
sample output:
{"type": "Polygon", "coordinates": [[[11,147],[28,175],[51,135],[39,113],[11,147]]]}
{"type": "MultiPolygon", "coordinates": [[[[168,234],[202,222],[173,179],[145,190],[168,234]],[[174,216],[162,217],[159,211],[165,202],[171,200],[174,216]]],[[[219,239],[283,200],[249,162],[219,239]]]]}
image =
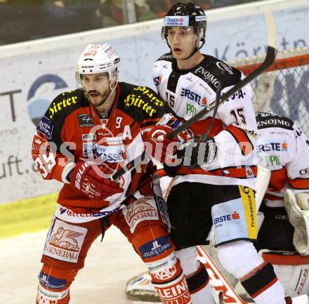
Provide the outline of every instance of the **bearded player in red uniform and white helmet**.
{"type": "Polygon", "coordinates": [[[81,88],[58,95],[34,134],[32,157],[39,173],[63,183],[41,258],[37,304],[69,303],[70,285],[89,247],[111,225],[145,262],[163,303],[191,303],[165,203],[152,183],[152,163],[110,180],[145,147],[156,157],[157,138],[169,131],[155,127],[162,117],[169,124],[157,93],[117,81],[119,61],[109,44],[88,45],[77,62],[81,88]]]}

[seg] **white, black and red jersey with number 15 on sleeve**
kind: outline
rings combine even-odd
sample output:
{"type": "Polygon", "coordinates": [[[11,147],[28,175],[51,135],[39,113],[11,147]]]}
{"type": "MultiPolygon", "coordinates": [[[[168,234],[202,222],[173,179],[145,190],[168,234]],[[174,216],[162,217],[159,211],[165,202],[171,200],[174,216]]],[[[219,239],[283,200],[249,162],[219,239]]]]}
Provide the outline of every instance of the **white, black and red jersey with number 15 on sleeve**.
{"type": "MultiPolygon", "coordinates": [[[[242,72],[210,55],[190,70],[178,70],[171,53],[162,55],[153,66],[159,95],[185,120],[213,103],[218,86],[225,93],[242,77],[242,72]]],[[[245,86],[219,105],[209,133],[216,140],[215,161],[198,169],[178,168],[174,185],[191,181],[255,187],[257,128],[251,95],[251,86],[245,86]]],[[[212,115],[213,111],[190,127],[195,135],[206,132],[212,115]]]]}

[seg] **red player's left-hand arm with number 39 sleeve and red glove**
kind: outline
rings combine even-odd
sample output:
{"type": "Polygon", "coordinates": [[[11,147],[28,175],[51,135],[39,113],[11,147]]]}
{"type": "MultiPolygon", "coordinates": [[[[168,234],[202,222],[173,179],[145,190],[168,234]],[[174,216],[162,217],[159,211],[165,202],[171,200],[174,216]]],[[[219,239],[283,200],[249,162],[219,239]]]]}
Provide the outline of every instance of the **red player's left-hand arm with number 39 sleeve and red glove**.
{"type": "MultiPolygon", "coordinates": [[[[57,102],[58,98],[55,98],[53,103],[57,102]]],[[[110,180],[114,171],[109,164],[74,160],[67,147],[74,150],[75,143],[66,141],[64,120],[58,115],[49,119],[48,113],[49,109],[39,122],[32,141],[32,158],[41,176],[46,180],[70,183],[90,199],[106,199],[123,192],[119,183],[110,180]]]]}

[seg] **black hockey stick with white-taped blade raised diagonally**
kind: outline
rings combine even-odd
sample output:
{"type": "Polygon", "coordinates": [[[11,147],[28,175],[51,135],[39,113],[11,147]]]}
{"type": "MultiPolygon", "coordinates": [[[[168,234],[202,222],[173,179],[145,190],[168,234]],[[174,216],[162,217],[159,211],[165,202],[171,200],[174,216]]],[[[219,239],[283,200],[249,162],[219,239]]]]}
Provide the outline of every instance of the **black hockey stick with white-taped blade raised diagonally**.
{"type": "MultiPolygon", "coordinates": [[[[171,139],[175,136],[177,136],[179,133],[184,131],[186,128],[189,128],[192,124],[194,124],[199,119],[202,119],[206,114],[211,112],[216,105],[224,103],[225,100],[230,98],[233,94],[237,93],[242,87],[246,86],[246,84],[249,84],[250,81],[254,80],[256,77],[258,77],[260,74],[262,74],[265,70],[272,65],[272,63],[275,61],[276,53],[277,53],[277,31],[276,31],[276,25],[275,20],[272,17],[271,12],[265,12],[265,20],[266,25],[268,28],[268,48],[266,52],[266,56],[264,61],[260,66],[256,68],[253,72],[251,72],[249,75],[244,77],[241,81],[239,81],[238,84],[235,84],[229,91],[225,92],[220,100],[215,100],[213,103],[205,107],[202,111],[195,114],[195,116],[188,119],[188,121],[185,121],[183,124],[178,126],[175,130],[173,130],[171,133],[167,134],[167,138],[171,139]]],[[[145,157],[145,151],[132,161],[130,161],[126,166],[123,166],[120,168],[114,175],[111,177],[111,180],[117,180],[120,176],[124,175],[127,171],[131,170],[131,168],[134,168],[136,166],[139,166],[142,162],[141,159],[145,157]]]]}

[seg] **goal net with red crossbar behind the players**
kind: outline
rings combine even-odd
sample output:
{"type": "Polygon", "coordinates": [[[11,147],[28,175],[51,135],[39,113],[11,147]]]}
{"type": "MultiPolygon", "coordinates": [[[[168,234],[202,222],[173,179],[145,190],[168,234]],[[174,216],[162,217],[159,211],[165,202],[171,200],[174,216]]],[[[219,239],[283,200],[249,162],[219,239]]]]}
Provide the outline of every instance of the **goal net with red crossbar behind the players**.
{"type": "MultiPolygon", "coordinates": [[[[263,62],[265,55],[230,60],[246,75],[263,62]]],[[[309,47],[277,53],[272,66],[251,81],[254,110],[274,112],[296,121],[309,136],[309,47]]]]}

